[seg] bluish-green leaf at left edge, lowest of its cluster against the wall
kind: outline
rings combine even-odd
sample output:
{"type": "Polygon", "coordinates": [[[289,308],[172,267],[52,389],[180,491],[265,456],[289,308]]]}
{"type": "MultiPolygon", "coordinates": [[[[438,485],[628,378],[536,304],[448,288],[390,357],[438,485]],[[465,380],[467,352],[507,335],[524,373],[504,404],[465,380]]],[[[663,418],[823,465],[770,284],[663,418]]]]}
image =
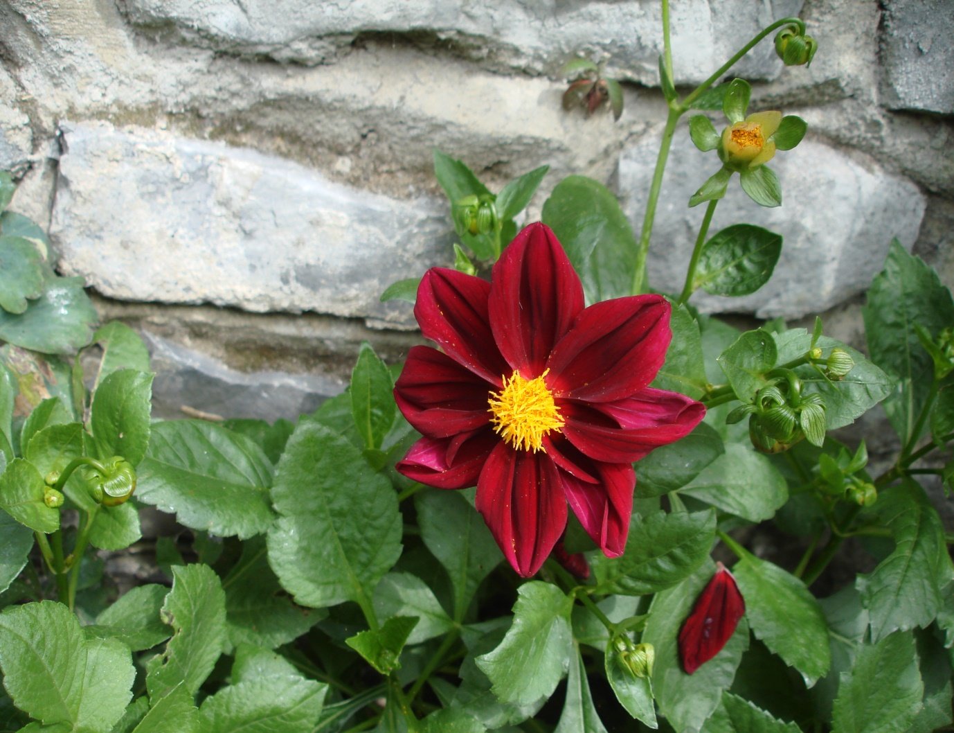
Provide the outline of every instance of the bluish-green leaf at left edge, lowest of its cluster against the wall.
{"type": "Polygon", "coordinates": [[[0,310],[0,339],[44,354],[73,353],[90,342],[96,311],[82,278],[51,278],[20,314],[0,310]]]}

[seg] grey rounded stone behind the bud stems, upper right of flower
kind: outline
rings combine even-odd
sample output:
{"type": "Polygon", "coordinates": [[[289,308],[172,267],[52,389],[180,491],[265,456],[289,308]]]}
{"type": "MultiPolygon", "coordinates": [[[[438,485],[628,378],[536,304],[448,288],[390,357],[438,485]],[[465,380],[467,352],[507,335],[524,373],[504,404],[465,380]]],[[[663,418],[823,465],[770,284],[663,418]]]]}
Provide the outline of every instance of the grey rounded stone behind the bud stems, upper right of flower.
{"type": "MultiPolygon", "coordinates": [[[[656,140],[650,139],[620,157],[619,190],[637,231],[657,148],[656,140]]],[[[676,293],[682,289],[705,208],[687,208],[709,175],[709,168],[702,168],[707,173],[699,171],[703,159],[715,173],[719,166],[715,153],[706,155],[691,144],[677,144],[670,155],[648,262],[655,288],[676,293]]],[[[817,313],[866,288],[881,269],[893,237],[908,249],[918,237],[923,195],[910,181],[887,174],[870,160],[806,139],[795,150],[779,153],[770,167],[781,181],[783,205],[758,206],[742,192],[736,176],[709,231],[712,236],[730,224],[752,223],[778,232],[784,238],[776,267],[779,277],[742,298],[698,292],[692,303],[703,311],[754,311],[761,318],[817,313]]]]}

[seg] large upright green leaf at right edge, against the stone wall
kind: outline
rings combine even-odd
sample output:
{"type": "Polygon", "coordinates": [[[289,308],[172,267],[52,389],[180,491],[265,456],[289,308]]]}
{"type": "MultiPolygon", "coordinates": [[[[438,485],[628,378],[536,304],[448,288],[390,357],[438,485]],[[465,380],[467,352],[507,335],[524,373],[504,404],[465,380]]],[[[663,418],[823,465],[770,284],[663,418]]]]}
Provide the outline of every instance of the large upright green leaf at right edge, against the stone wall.
{"type": "Polygon", "coordinates": [[[884,410],[902,445],[907,445],[934,372],[914,326],[922,325],[936,338],[944,326],[954,323],[951,293],[933,269],[895,240],[884,269],[871,283],[861,315],[871,360],[896,380],[884,410]]]}

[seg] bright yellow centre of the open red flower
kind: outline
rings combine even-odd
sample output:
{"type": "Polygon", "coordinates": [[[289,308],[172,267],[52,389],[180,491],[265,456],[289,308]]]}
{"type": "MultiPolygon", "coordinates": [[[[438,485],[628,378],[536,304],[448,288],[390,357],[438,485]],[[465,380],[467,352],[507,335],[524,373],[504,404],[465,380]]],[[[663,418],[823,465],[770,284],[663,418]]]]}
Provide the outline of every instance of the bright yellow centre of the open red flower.
{"type": "Polygon", "coordinates": [[[490,392],[487,401],[488,411],[493,414],[490,418],[493,429],[515,449],[541,450],[550,430],[563,427],[560,410],[543,381],[547,371],[530,380],[515,371],[509,379],[504,377],[504,388],[500,392],[490,392]]]}

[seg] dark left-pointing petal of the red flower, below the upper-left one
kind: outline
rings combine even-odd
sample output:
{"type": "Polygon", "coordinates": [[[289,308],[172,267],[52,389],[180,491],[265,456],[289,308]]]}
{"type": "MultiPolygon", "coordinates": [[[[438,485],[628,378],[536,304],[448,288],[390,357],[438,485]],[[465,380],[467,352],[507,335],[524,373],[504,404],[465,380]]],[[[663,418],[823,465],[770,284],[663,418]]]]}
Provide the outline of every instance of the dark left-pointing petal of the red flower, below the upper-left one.
{"type": "Polygon", "coordinates": [[[394,385],[394,400],[414,429],[431,438],[482,428],[487,399],[500,382],[487,381],[430,346],[412,346],[394,385]]]}

